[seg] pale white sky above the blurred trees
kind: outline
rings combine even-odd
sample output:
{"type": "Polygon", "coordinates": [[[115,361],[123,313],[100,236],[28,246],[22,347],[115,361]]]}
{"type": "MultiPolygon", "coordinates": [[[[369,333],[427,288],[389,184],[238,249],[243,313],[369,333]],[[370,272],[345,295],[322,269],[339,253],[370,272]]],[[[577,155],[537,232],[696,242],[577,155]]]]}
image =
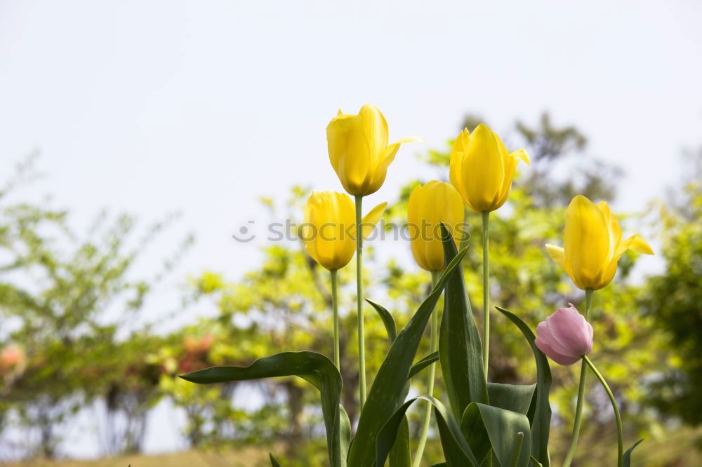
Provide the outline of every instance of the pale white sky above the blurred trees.
{"type": "MultiPolygon", "coordinates": [[[[467,112],[506,132],[548,110],[626,170],[615,208],[637,210],[702,142],[701,24],[700,1],[0,0],[0,174],[39,148],[35,189],[76,222],[183,210],[183,274],[234,278],[259,257],[230,238],[265,219],[258,196],[341,190],[324,133],[339,107],[373,102],[391,140],[428,147],[467,112]]],[[[420,149],[367,205],[437,177],[420,149]]]]}

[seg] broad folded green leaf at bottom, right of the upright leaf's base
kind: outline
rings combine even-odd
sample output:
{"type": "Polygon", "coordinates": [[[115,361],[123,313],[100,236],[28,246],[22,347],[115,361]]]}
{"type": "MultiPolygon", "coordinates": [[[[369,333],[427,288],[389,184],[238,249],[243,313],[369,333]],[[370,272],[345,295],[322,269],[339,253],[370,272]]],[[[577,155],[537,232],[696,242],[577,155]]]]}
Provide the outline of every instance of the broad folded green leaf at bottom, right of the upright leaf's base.
{"type": "Polygon", "coordinates": [[[531,430],[526,415],[471,402],[465,407],[461,431],[477,459],[482,461],[492,449],[501,466],[529,465],[531,430]],[[519,433],[524,433],[523,442],[519,439],[519,433]],[[516,464],[512,463],[515,454],[518,455],[516,464]]]}

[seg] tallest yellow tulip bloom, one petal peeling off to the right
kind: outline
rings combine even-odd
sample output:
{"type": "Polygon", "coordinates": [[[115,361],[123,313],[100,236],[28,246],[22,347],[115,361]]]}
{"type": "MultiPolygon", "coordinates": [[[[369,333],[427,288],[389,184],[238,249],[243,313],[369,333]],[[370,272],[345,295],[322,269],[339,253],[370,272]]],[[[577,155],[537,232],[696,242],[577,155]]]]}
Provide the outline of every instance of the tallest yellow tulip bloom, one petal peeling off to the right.
{"type": "Polygon", "coordinates": [[[388,123],[373,104],[364,105],[358,115],[341,110],[326,127],[329,161],[348,194],[366,196],[385,182],[388,165],[402,143],[422,141],[402,138],[388,146],[388,123]]]}

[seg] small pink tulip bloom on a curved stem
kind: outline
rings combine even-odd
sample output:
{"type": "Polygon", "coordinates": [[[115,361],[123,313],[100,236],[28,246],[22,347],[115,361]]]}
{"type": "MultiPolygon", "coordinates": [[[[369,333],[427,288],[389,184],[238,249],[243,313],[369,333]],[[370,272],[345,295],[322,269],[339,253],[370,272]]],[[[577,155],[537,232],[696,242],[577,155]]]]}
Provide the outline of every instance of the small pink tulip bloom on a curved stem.
{"type": "Polygon", "coordinates": [[[592,326],[573,304],[536,327],[536,346],[555,363],[573,365],[592,350],[592,326]]]}

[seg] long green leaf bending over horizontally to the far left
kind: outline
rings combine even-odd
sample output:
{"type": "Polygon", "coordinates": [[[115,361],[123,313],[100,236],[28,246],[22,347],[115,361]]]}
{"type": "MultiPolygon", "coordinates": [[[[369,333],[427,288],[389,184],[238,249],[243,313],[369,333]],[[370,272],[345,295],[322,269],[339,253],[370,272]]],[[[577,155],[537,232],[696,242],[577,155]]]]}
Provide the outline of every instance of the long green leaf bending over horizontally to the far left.
{"type": "MultiPolygon", "coordinates": [[[[284,376],[298,376],[319,389],[329,462],[333,467],[345,466],[346,457],[342,455],[342,424],[339,409],[341,375],[331,360],[321,353],[309,351],[278,353],[271,357],[259,358],[248,367],[211,367],[180,377],[197,384],[210,384],[284,376]]],[[[347,429],[350,433],[350,425],[347,429]]]]}

